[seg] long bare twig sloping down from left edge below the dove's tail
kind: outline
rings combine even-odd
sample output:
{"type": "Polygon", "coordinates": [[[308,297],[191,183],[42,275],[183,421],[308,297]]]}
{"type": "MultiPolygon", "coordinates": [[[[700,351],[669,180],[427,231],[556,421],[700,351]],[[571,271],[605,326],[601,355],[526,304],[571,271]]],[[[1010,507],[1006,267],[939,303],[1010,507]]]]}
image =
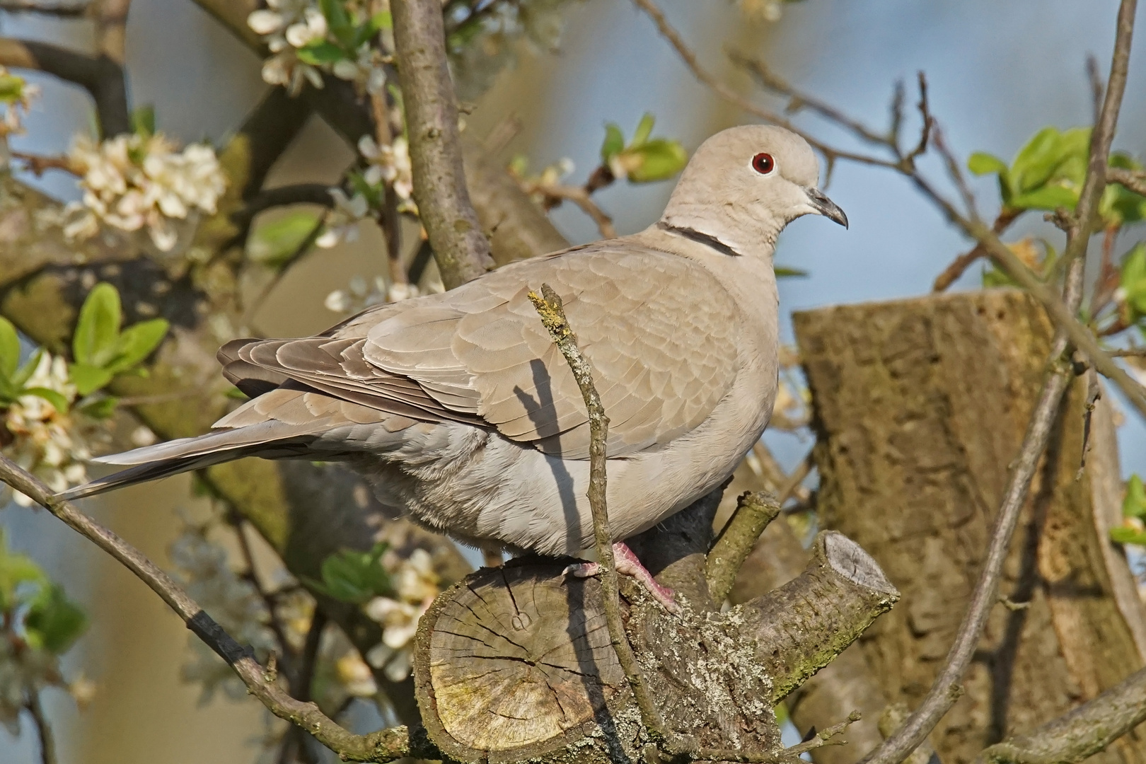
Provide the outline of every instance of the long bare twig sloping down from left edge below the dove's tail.
{"type": "Polygon", "coordinates": [[[198,602],[188,597],[179,584],[138,549],[80,512],[72,503],[56,498],[50,488],[2,455],[0,481],[44,506],[121,562],[151,591],[159,594],[196,637],[230,665],[248,691],[272,714],[305,728],[344,759],[391,762],[406,756],[433,759],[441,757],[424,735],[411,735],[405,726],[356,735],[327,717],[314,703],[291,698],[266,676],[249,647],[236,643],[198,602]]]}

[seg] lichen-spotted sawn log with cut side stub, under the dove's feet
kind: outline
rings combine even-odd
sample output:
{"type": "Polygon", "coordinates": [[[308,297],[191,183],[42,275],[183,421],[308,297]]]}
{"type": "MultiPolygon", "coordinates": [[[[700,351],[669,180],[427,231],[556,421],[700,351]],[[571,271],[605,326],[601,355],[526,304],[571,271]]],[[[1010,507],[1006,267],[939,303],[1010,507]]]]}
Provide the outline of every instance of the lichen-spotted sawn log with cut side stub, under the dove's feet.
{"type": "MultiPolygon", "coordinates": [[[[627,636],[673,732],[700,748],[776,751],[779,696],[839,654],[898,593],[859,546],[829,533],[803,574],[721,614],[705,586],[683,580],[688,570],[702,572],[694,552],[698,544],[707,550],[708,533],[680,531],[711,523],[714,509],[690,522],[690,507],[652,531],[673,536],[661,549],[675,543],[676,562],[660,560],[658,580],[680,586],[684,613],[669,614],[622,578],[627,636]]],[[[563,577],[567,562],[525,558],[481,569],[423,616],[414,661],[418,707],[430,740],[450,758],[604,764],[637,761],[651,742],[610,640],[601,584],[563,577]]]]}

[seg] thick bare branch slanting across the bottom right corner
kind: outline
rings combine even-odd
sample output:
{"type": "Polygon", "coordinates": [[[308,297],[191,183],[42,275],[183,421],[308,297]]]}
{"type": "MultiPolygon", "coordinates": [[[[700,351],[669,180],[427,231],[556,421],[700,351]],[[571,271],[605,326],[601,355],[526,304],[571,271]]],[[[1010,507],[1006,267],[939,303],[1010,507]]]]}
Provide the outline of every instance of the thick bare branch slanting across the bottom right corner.
{"type": "Polygon", "coordinates": [[[1146,669],[1069,714],[983,750],[975,764],[1074,764],[1146,722],[1146,669]]]}

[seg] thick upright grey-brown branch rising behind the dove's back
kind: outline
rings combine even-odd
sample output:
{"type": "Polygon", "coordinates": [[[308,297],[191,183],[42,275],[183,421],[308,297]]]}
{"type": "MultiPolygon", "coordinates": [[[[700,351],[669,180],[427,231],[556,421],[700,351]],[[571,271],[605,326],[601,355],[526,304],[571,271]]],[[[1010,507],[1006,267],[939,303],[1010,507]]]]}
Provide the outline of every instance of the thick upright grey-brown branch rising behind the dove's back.
{"type": "Polygon", "coordinates": [[[394,45],[414,166],[414,198],[446,289],[494,267],[462,172],[457,101],[439,0],[393,0],[394,45]]]}

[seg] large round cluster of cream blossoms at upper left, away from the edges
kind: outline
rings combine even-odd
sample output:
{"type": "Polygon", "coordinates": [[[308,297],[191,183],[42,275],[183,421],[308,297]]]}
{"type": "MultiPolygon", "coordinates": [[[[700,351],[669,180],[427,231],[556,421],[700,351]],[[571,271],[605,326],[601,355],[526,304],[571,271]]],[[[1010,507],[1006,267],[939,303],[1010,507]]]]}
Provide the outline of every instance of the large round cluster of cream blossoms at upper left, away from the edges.
{"type": "Polygon", "coordinates": [[[64,211],[64,233],[88,237],[100,223],[125,231],[147,229],[160,252],[189,230],[199,213],[214,214],[227,179],[214,149],[193,143],[182,151],[162,134],[125,134],[96,143],[79,136],[68,152],[80,175],[83,203],[64,211]]]}

